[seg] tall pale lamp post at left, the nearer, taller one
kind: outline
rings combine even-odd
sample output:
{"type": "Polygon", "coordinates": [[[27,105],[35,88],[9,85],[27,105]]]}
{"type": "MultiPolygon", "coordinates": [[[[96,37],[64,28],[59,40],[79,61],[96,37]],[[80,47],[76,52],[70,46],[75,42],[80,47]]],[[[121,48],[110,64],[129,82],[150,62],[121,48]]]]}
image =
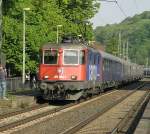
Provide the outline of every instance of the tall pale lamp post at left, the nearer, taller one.
{"type": "Polygon", "coordinates": [[[23,8],[23,66],[22,66],[22,84],[25,83],[25,12],[30,8],[23,8]]]}

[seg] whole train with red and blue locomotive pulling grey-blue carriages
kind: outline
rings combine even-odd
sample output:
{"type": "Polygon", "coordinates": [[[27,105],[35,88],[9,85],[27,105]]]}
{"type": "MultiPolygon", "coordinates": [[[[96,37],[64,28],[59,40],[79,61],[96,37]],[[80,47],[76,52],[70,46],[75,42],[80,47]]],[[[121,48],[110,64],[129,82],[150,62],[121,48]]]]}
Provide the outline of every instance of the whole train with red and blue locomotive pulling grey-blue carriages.
{"type": "Polygon", "coordinates": [[[79,100],[143,78],[143,67],[86,43],[46,43],[40,49],[38,98],[79,100]]]}

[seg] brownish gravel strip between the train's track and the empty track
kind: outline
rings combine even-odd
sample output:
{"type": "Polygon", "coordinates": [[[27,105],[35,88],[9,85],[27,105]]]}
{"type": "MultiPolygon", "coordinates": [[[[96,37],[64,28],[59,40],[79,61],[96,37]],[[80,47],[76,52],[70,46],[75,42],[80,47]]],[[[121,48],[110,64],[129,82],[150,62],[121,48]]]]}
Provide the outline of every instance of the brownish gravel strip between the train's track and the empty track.
{"type": "Polygon", "coordinates": [[[9,132],[14,132],[15,134],[59,134],[130,92],[132,91],[120,90],[106,94],[100,96],[98,100],[95,99],[90,103],[83,103],[80,106],[75,106],[75,108],[68,108],[68,110],[59,112],[57,116],[51,116],[49,119],[47,117],[45,121],[40,121],[40,123],[34,121],[35,124],[30,124],[28,127],[24,126],[25,128],[21,128],[21,130],[15,129],[9,132]]]}

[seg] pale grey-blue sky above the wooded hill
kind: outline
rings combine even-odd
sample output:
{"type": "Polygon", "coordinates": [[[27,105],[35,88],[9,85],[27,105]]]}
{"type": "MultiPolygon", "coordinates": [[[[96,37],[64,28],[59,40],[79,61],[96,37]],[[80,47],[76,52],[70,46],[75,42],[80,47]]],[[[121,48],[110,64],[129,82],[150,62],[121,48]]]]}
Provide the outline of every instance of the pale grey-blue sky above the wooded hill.
{"type": "Polygon", "coordinates": [[[91,19],[93,28],[106,24],[120,23],[126,17],[132,17],[144,11],[150,11],[150,0],[117,0],[115,2],[101,2],[99,12],[91,19]],[[122,11],[121,11],[122,10],[122,11]]]}

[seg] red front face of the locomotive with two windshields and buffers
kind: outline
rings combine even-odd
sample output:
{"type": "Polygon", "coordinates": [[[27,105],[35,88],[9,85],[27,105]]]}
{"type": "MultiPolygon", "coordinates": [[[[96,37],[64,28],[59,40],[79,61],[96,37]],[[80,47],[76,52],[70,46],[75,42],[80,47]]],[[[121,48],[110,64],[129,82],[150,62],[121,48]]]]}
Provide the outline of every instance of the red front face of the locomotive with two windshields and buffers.
{"type": "Polygon", "coordinates": [[[46,44],[40,51],[39,89],[48,100],[77,100],[86,80],[86,48],[46,44]]]}

